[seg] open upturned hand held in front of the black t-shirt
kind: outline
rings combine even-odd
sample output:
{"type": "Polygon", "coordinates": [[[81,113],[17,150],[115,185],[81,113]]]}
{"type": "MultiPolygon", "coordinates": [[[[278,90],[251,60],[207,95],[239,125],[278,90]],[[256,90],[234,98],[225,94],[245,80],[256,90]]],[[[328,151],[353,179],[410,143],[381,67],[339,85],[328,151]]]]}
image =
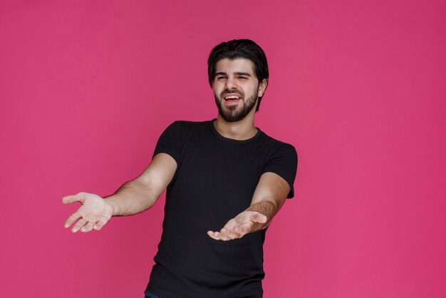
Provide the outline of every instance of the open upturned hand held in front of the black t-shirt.
{"type": "Polygon", "coordinates": [[[256,223],[263,225],[268,221],[268,218],[256,211],[244,211],[236,217],[229,220],[226,225],[219,232],[208,231],[207,235],[215,240],[234,240],[242,238],[249,232],[259,229],[253,229],[256,223]]]}

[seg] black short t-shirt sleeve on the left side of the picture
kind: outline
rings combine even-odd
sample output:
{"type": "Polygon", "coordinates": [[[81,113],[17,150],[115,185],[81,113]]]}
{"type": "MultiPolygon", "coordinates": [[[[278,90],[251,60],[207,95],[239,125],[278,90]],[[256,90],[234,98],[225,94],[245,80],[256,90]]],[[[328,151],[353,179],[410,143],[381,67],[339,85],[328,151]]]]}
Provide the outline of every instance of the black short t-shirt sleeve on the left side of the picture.
{"type": "Polygon", "coordinates": [[[153,156],[157,155],[158,153],[166,153],[175,159],[177,165],[180,165],[181,149],[181,126],[179,121],[175,121],[160,135],[153,156]]]}

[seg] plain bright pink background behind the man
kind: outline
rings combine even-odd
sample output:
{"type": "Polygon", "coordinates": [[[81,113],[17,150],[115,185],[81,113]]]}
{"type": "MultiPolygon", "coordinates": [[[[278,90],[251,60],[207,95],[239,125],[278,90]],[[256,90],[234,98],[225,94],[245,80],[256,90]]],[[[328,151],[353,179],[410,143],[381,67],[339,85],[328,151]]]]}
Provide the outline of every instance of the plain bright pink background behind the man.
{"type": "Polygon", "coordinates": [[[445,34],[440,0],[1,1],[0,297],[143,297],[164,197],[75,235],[61,197],[214,118],[207,55],[232,38],[269,58],[256,125],[299,153],[265,297],[446,297],[445,34]]]}

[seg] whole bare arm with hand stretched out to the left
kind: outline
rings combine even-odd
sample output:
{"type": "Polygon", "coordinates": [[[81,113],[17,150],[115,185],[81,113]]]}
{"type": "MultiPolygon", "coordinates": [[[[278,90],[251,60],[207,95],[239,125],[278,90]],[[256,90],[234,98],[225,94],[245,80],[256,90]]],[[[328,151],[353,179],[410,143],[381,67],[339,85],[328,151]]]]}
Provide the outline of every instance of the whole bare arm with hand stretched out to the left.
{"type": "Polygon", "coordinates": [[[68,217],[64,226],[70,227],[76,222],[72,232],[90,232],[102,229],[112,216],[144,211],[155,204],[176,170],[175,160],[170,155],[159,153],[138,178],[125,183],[109,197],[103,199],[86,192],[63,197],[64,204],[81,202],[81,207],[68,217]]]}

